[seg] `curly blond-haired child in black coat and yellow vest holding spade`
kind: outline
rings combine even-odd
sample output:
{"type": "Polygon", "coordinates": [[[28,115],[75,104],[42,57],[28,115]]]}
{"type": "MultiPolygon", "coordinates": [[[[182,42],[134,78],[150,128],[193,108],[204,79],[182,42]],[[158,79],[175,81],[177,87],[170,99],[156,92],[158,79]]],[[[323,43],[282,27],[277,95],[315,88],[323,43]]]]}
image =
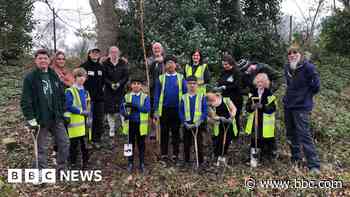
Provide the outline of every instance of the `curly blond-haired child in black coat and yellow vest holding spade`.
{"type": "Polygon", "coordinates": [[[261,156],[270,160],[276,156],[276,97],[271,92],[270,81],[267,74],[259,73],[254,79],[254,84],[256,85],[256,88],[252,94],[249,95],[246,106],[249,116],[245,131],[248,134],[252,133],[250,145],[251,151],[254,149],[255,152],[261,149],[261,156]],[[256,112],[258,112],[257,128],[255,125],[256,112]],[[255,146],[255,129],[257,129],[257,146],[255,146]],[[255,150],[255,147],[257,147],[258,150],[255,150]]]}

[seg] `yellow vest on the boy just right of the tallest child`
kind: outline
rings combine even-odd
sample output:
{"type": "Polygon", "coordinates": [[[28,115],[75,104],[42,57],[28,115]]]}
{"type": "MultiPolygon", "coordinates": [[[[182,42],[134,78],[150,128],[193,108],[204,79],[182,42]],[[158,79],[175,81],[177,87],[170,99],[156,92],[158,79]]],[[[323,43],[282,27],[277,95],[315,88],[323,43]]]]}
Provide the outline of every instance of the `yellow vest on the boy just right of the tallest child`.
{"type": "MultiPolygon", "coordinates": [[[[203,94],[196,94],[193,123],[198,122],[202,116],[203,96],[204,96],[203,94]]],[[[191,121],[190,94],[189,93],[184,94],[182,96],[182,100],[184,102],[185,121],[191,121]]]]}

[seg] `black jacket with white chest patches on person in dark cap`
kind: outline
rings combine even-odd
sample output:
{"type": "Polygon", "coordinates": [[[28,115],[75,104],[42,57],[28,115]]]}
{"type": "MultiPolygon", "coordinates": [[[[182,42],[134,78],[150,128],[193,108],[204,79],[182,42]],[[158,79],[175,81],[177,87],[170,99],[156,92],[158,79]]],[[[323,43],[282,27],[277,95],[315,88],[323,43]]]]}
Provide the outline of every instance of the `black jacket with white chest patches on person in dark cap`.
{"type": "Polygon", "coordinates": [[[104,101],[105,69],[99,62],[93,62],[90,57],[80,65],[87,71],[88,78],[84,87],[89,91],[91,100],[94,102],[104,101]]]}

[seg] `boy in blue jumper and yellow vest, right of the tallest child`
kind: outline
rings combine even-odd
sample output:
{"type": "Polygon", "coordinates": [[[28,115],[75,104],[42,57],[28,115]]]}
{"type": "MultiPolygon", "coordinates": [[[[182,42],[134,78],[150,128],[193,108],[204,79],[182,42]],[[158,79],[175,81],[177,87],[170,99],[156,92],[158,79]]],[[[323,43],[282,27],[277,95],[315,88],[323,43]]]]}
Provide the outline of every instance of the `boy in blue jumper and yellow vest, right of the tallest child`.
{"type": "Polygon", "coordinates": [[[205,132],[204,121],[207,119],[207,100],[203,93],[197,93],[198,82],[197,77],[189,76],[186,79],[188,93],[184,94],[180,104],[180,120],[184,125],[184,158],[185,165],[190,161],[190,149],[192,144],[192,131],[198,129],[197,142],[198,142],[198,162],[199,165],[203,163],[203,136],[205,132]]]}

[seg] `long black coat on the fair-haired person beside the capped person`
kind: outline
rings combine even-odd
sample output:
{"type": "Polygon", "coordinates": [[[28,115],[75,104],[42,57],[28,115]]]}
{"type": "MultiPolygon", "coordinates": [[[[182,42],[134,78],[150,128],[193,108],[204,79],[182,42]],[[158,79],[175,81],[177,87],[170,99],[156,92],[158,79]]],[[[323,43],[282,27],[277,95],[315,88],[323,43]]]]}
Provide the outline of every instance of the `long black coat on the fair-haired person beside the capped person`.
{"type": "Polygon", "coordinates": [[[122,59],[119,59],[118,64],[114,66],[110,58],[103,62],[103,66],[105,68],[105,111],[117,113],[125,85],[129,79],[128,67],[122,59]],[[112,89],[113,83],[119,83],[116,90],[112,89]]]}

